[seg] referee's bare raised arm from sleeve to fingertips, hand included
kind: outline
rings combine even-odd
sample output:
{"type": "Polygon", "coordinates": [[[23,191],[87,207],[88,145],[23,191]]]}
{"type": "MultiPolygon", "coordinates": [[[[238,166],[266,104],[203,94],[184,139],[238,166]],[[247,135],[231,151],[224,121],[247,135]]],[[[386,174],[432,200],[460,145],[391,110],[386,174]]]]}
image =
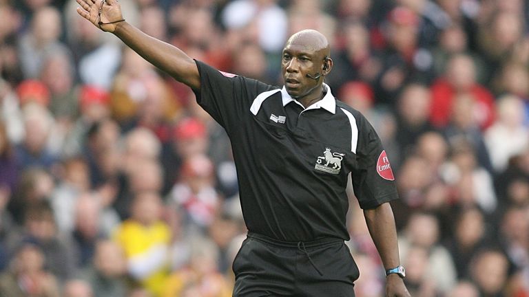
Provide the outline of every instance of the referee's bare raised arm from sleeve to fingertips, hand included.
{"type": "Polygon", "coordinates": [[[174,45],[155,39],[123,19],[117,0],[76,0],[77,12],[103,31],[118,36],[145,60],[192,89],[200,88],[195,61],[174,45]]]}

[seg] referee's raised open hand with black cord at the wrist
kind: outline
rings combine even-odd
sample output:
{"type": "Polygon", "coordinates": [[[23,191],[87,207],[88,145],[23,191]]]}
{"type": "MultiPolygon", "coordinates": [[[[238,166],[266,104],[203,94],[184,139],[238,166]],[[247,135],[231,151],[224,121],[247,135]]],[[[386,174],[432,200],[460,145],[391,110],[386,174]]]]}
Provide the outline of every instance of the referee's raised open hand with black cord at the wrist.
{"type": "Polygon", "coordinates": [[[117,0],[76,1],[81,5],[80,8],[77,8],[77,13],[103,31],[114,32],[117,25],[125,21],[121,14],[121,5],[117,0]]]}

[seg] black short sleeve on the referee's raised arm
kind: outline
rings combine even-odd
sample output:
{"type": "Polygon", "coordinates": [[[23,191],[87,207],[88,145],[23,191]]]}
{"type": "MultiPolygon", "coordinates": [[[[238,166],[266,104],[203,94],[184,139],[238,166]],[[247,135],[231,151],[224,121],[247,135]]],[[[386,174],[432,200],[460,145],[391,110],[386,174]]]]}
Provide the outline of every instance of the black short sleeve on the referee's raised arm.
{"type": "Polygon", "coordinates": [[[193,90],[196,101],[228,134],[250,112],[253,99],[273,88],[258,80],[220,72],[200,61],[196,65],[200,74],[200,89],[193,90]]]}

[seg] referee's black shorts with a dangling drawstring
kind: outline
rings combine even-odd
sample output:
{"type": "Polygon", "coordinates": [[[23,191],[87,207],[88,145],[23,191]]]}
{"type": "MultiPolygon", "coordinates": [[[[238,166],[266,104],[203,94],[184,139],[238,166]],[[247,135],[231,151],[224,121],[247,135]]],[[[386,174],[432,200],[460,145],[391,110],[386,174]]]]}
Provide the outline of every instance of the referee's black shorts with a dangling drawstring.
{"type": "Polygon", "coordinates": [[[289,243],[249,233],[235,257],[234,297],[354,297],[360,276],[342,239],[289,243]]]}

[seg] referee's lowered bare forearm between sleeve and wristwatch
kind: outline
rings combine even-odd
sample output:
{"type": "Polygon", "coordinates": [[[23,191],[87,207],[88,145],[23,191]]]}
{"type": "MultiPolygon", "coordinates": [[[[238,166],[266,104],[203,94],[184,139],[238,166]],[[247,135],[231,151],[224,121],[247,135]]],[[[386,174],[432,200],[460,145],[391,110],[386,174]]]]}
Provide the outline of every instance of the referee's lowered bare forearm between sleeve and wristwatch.
{"type": "Polygon", "coordinates": [[[395,218],[390,204],[383,203],[377,208],[364,210],[364,217],[384,269],[400,265],[395,218]]]}

